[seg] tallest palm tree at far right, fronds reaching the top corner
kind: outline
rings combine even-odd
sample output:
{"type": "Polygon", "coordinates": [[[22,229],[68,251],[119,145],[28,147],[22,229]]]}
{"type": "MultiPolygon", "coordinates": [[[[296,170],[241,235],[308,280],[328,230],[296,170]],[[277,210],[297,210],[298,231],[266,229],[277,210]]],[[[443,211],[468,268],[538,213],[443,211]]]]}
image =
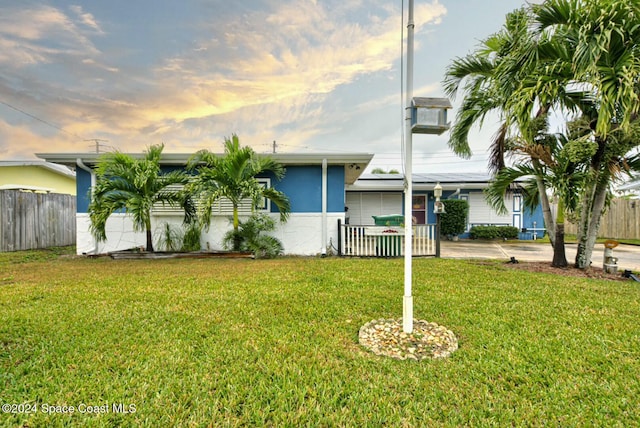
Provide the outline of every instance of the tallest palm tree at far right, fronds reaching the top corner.
{"type": "Polygon", "coordinates": [[[584,141],[597,146],[589,159],[576,254],[576,267],[587,268],[611,183],[629,166],[626,154],[640,144],[634,130],[640,104],[640,4],[547,0],[531,8],[539,33],[550,34],[571,53],[573,84],[588,92],[582,104],[589,120],[584,141]]]}

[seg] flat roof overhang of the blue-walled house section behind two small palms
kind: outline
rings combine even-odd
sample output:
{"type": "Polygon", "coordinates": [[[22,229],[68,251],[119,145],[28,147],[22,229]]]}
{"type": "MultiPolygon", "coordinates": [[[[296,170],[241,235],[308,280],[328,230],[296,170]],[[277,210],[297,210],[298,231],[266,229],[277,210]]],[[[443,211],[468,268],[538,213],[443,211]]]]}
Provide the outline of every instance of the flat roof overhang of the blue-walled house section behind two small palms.
{"type": "MultiPolygon", "coordinates": [[[[134,158],[142,158],[142,153],[129,153],[134,158]]],[[[193,153],[163,153],[160,163],[162,165],[185,165],[193,153]]],[[[222,156],[223,154],[220,153],[222,156]]],[[[75,167],[78,159],[87,166],[95,165],[100,153],[36,153],[41,159],[48,162],[75,167]]],[[[345,183],[354,183],[364,172],[373,159],[371,153],[274,153],[271,158],[285,166],[292,165],[322,165],[327,160],[328,165],[343,165],[345,170],[345,183]]]]}

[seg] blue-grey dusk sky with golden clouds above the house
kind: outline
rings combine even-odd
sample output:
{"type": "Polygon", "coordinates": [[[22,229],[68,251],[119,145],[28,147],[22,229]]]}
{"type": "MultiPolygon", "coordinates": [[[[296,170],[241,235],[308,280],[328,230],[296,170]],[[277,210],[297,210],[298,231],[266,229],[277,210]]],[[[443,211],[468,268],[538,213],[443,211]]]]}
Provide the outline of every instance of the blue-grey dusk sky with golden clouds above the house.
{"type": "MultiPolygon", "coordinates": [[[[402,0],[0,2],[0,160],[117,149],[373,153],[401,169],[402,0]]],[[[416,0],[414,96],[521,0],[416,0]]],[[[460,99],[452,100],[455,108],[460,99]]],[[[414,135],[414,172],[486,171],[491,121],[456,157],[414,135]]]]}

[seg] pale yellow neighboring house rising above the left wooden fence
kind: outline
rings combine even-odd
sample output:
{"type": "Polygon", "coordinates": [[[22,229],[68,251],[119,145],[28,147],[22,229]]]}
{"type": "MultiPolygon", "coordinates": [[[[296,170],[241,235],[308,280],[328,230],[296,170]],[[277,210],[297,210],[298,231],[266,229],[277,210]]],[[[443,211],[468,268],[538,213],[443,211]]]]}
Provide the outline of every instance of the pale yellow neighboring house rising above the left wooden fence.
{"type": "Polygon", "coordinates": [[[0,161],[0,190],[76,194],[76,174],[41,160],[0,161]]]}

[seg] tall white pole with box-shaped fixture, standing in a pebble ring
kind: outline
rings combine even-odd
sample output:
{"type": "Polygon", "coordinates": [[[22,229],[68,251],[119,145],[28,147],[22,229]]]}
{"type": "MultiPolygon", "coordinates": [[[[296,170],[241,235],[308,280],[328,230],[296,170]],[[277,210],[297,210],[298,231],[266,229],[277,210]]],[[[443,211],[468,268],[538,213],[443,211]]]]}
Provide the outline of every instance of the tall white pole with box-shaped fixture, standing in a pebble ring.
{"type": "Polygon", "coordinates": [[[402,330],[413,332],[413,183],[412,151],[413,133],[440,135],[447,129],[447,98],[413,98],[413,0],[409,0],[407,19],[407,81],[405,108],[405,159],[404,159],[404,298],[402,301],[402,330]]]}

